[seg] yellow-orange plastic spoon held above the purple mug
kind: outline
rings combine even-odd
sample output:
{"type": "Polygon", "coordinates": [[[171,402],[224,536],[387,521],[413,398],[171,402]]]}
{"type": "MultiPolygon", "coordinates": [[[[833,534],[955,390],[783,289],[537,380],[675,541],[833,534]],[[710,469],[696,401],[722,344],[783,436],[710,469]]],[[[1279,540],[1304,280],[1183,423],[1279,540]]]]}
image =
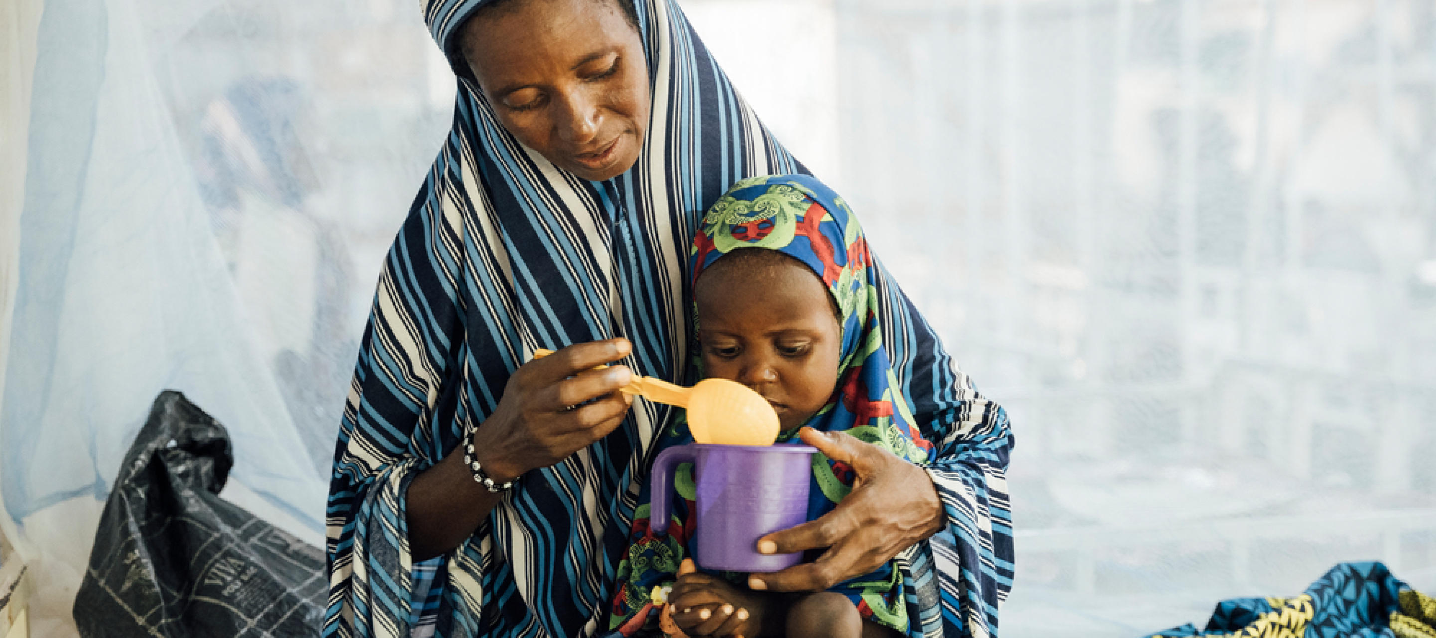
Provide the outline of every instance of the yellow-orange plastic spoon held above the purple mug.
{"type": "MultiPolygon", "coordinates": [[[[534,359],[553,351],[537,349],[534,359]]],[[[607,368],[600,365],[595,369],[607,368]]],[[[688,410],[688,430],[698,443],[728,445],[771,445],[778,440],[778,412],[752,388],[737,381],[702,379],[692,388],[669,384],[652,376],[633,375],[633,381],[619,388],[649,401],[688,410]]]]}

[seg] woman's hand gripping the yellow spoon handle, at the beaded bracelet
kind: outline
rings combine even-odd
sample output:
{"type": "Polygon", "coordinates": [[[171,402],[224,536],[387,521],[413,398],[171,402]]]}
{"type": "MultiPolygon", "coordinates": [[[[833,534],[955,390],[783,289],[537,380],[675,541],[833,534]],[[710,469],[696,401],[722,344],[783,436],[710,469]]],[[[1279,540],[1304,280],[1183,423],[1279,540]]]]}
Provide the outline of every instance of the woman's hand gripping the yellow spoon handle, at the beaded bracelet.
{"type": "Polygon", "coordinates": [[[622,365],[593,368],[630,351],[628,339],[577,343],[514,371],[474,433],[474,456],[490,478],[504,483],[553,466],[617,428],[633,404],[619,388],[633,375],[622,365]]]}

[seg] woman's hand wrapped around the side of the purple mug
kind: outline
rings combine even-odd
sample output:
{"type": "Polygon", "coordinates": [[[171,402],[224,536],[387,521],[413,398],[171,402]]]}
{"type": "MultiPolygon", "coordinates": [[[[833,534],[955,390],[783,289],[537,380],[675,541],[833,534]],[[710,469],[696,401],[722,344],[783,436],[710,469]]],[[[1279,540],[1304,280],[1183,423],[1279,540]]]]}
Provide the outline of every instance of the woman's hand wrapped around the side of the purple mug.
{"type": "Polygon", "coordinates": [[[920,467],[847,433],[804,427],[798,435],[834,461],[853,467],[853,491],[833,512],[758,539],[761,553],[826,547],[811,563],[748,576],[752,589],[808,592],[869,573],[899,552],[942,530],[945,514],[932,477],[920,467]]]}

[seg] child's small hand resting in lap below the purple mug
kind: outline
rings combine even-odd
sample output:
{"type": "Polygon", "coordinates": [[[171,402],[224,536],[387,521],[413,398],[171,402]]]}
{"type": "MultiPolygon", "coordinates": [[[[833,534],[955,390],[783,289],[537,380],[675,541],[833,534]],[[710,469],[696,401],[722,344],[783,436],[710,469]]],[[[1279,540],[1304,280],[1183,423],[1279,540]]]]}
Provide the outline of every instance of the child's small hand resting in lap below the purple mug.
{"type": "Polygon", "coordinates": [[[757,638],[767,608],[763,598],[698,573],[694,560],[684,559],[668,604],[673,606],[673,622],[689,637],[757,638]]]}

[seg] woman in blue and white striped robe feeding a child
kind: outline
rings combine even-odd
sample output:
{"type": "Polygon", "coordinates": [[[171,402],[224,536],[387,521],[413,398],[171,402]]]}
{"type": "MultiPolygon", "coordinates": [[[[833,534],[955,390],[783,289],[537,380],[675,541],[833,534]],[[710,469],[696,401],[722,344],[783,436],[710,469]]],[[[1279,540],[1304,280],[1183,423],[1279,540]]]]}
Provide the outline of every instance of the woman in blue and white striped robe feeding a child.
{"type": "MultiPolygon", "coordinates": [[[[597,635],[671,418],[617,388],[628,366],[691,381],[702,211],[741,178],[801,167],[672,3],[431,0],[425,19],[458,103],[350,385],[325,634],[597,635]],[[559,352],[524,364],[536,348],[559,352]],[[607,362],[628,366],[586,372],[607,362]]],[[[760,542],[829,547],[823,560],[750,585],[826,589],[902,552],[916,634],[991,634],[1011,582],[1007,418],[925,323],[887,328],[929,440],[958,453],[923,471],[850,437],[810,441],[864,487],[760,542]],[[949,542],[923,542],[935,533],[949,542]]]]}

